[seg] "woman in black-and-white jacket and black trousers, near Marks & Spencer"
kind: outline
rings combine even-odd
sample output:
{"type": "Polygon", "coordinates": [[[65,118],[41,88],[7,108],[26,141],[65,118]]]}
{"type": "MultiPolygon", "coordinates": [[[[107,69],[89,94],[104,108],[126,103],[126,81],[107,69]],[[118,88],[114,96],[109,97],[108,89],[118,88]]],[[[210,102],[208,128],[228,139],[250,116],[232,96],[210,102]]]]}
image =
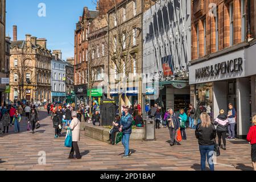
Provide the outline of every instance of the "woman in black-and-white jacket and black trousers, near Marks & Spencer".
{"type": "Polygon", "coordinates": [[[226,150],[226,132],[228,131],[228,117],[223,109],[220,110],[220,115],[214,120],[214,125],[217,125],[217,135],[218,135],[218,146],[221,147],[221,138],[223,140],[222,149],[226,150]]]}

